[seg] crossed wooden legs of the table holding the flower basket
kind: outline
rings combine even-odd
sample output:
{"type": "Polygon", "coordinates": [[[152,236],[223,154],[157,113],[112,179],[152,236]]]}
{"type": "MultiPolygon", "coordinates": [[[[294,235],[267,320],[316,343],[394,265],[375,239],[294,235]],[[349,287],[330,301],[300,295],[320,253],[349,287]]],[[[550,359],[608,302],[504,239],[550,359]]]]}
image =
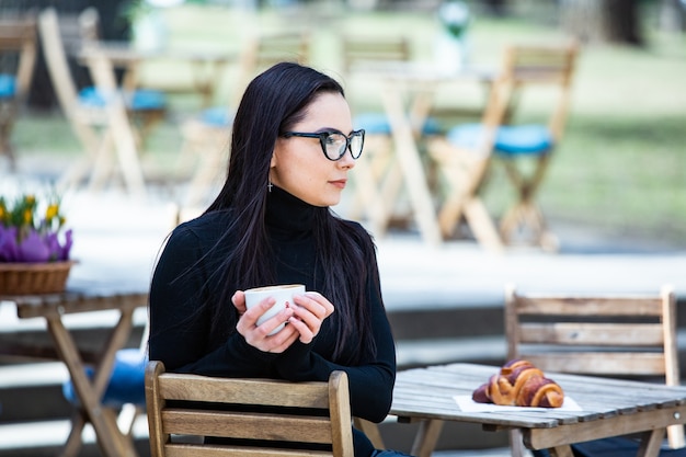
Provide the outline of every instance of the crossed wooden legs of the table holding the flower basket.
{"type": "MultiPolygon", "coordinates": [[[[100,403],[108,380],[108,374],[114,365],[114,354],[118,347],[123,346],[130,331],[133,310],[123,311],[122,318],[107,342],[107,347],[92,382],[84,372],[83,361],[76,342],[65,328],[61,319],[59,317],[49,317],[47,319],[48,330],[55,340],[55,345],[62,362],[67,365],[73,388],[81,402],[83,416],[82,421],[79,419],[75,421],[75,429],[80,431],[85,421],[91,422],[98,436],[98,444],[103,455],[107,457],[136,456],[132,441],[123,436],[117,427],[114,411],[100,403]]],[[[70,436],[65,452],[72,453],[78,450],[76,443],[75,438],[70,436]]]]}

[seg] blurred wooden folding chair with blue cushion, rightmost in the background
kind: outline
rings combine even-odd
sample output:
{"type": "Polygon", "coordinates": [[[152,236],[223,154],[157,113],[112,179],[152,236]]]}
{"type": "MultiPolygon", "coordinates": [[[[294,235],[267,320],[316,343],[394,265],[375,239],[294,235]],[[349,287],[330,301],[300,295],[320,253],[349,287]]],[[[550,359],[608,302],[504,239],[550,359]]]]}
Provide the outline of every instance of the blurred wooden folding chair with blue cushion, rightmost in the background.
{"type": "Polygon", "coordinates": [[[562,139],[576,55],[575,43],[507,47],[481,122],[458,125],[430,145],[447,187],[439,214],[444,236],[450,236],[464,216],[487,248],[502,250],[514,241],[516,230],[528,230],[534,244],[557,248],[535,197],[562,139]],[[530,111],[535,114],[528,115],[538,121],[536,113],[545,113],[546,119],[515,124],[524,99],[537,102],[530,111]],[[479,198],[493,158],[504,163],[515,193],[499,230],[479,198]]]}

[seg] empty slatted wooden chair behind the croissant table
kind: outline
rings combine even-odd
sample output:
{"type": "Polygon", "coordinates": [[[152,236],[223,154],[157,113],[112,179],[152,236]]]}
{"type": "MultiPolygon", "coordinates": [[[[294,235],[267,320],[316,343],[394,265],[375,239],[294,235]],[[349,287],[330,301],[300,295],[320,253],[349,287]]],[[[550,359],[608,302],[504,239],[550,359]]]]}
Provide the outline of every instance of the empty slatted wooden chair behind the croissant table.
{"type": "MultiPolygon", "coordinates": [[[[676,304],[671,286],[660,294],[505,293],[507,357],[544,372],[611,377],[656,377],[679,385],[676,304]]],[[[670,447],[684,447],[684,427],[667,429],[670,447]]],[[[513,456],[522,436],[512,433],[513,456]]],[[[582,444],[583,445],[583,444],[582,444]]]]}

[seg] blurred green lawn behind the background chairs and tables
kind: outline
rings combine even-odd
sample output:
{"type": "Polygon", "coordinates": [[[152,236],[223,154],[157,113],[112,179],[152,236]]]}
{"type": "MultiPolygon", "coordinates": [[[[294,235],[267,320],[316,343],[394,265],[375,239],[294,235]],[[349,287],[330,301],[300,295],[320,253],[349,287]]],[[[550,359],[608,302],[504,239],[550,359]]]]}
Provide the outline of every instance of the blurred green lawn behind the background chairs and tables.
{"type": "MultiPolygon", "coordinates": [[[[238,52],[258,30],[308,26],[312,36],[312,65],[340,72],[338,34],[411,34],[416,60],[433,59],[438,31],[431,13],[363,13],[310,11],[259,16],[220,7],[186,5],[167,12],[173,46],[207,46],[238,52]]],[[[552,224],[565,220],[615,232],[648,235],[686,245],[686,35],[664,35],[647,30],[649,46],[584,46],[574,80],[565,137],[554,152],[540,194],[552,224]]],[[[562,38],[559,28],[523,19],[477,18],[470,30],[470,58],[475,65],[496,66],[502,48],[514,42],[562,38]]],[[[148,66],[149,79],[187,78],[169,64],[148,66]],[[171,68],[171,71],[170,71],[171,68]]],[[[217,101],[227,100],[236,73],[229,69],[220,82],[217,101]]],[[[346,83],[347,81],[343,81],[346,83]]],[[[380,110],[378,88],[355,92],[348,88],[354,110],[380,110]]],[[[446,92],[442,103],[479,103],[480,88],[446,92]]],[[[195,102],[176,99],[180,112],[195,102]]],[[[523,116],[536,112],[522,113],[523,116]]],[[[23,117],[14,136],[20,153],[73,156],[78,144],[60,116],[23,117]],[[45,132],[36,135],[37,132],[45,132]]],[[[173,123],[155,132],[149,157],[169,165],[180,149],[173,123]]],[[[511,198],[510,184],[495,168],[485,199],[494,215],[511,198]]]]}

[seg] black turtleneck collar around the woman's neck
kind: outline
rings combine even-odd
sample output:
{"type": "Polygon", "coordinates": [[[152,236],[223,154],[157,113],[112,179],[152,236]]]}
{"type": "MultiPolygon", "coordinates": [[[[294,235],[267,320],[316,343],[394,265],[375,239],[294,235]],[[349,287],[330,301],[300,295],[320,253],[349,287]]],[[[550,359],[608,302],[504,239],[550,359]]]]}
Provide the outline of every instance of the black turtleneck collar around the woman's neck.
{"type": "Polygon", "coordinates": [[[309,232],[318,209],[320,208],[273,185],[266,198],[265,222],[270,231],[309,232]]]}

